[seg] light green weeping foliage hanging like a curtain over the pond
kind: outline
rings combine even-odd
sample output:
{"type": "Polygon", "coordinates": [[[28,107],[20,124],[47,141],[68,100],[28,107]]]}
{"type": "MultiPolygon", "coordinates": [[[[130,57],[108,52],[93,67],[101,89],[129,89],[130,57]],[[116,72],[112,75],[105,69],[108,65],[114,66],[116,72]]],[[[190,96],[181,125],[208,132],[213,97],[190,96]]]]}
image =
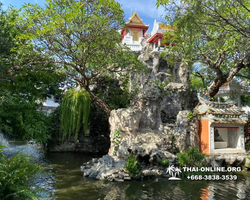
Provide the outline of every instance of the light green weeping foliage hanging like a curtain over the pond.
{"type": "Polygon", "coordinates": [[[66,92],[61,104],[61,133],[63,139],[70,139],[74,135],[78,139],[81,127],[87,133],[90,114],[90,96],[86,90],[70,89],[66,92]]]}

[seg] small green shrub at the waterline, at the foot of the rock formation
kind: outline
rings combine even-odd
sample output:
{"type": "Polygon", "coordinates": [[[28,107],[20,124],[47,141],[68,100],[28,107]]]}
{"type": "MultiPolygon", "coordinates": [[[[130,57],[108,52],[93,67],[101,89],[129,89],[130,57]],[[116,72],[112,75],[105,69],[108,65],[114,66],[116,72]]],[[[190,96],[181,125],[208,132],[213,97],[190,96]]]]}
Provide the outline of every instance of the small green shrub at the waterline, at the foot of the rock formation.
{"type": "Polygon", "coordinates": [[[140,176],[141,166],[133,154],[127,158],[125,169],[129,172],[130,177],[138,178],[140,176]]]}

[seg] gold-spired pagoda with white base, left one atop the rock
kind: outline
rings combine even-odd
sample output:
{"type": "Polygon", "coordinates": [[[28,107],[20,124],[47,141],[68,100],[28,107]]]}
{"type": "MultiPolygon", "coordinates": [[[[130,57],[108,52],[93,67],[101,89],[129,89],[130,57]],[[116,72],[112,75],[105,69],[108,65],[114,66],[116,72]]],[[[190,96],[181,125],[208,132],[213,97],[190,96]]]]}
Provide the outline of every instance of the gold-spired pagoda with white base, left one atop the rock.
{"type": "Polygon", "coordinates": [[[145,25],[135,11],[121,30],[122,44],[126,44],[132,51],[141,51],[141,40],[146,37],[148,28],[149,25],[145,25]]]}

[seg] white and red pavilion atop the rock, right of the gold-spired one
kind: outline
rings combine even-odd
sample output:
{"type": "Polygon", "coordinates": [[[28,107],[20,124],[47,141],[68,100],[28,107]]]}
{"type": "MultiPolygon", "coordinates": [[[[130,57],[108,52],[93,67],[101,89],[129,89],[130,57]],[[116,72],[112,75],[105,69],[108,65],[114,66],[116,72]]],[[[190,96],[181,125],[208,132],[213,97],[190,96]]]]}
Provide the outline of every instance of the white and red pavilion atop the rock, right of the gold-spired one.
{"type": "Polygon", "coordinates": [[[163,42],[163,34],[166,31],[174,31],[173,27],[167,24],[154,21],[154,27],[151,33],[148,43],[154,44],[154,50],[162,50],[166,46],[170,46],[169,42],[163,42]]]}

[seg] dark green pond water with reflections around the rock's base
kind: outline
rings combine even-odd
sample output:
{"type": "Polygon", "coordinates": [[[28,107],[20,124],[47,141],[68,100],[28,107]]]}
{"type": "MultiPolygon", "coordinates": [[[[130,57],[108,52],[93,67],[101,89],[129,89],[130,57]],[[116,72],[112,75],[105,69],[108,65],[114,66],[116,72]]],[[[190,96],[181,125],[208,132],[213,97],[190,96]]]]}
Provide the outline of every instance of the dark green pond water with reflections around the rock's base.
{"type": "Polygon", "coordinates": [[[32,145],[9,145],[7,155],[24,149],[46,171],[36,179],[47,193],[41,200],[228,200],[250,199],[250,172],[238,174],[236,181],[169,181],[154,178],[144,181],[108,182],[82,177],[80,166],[95,155],[44,153],[32,145]]]}

